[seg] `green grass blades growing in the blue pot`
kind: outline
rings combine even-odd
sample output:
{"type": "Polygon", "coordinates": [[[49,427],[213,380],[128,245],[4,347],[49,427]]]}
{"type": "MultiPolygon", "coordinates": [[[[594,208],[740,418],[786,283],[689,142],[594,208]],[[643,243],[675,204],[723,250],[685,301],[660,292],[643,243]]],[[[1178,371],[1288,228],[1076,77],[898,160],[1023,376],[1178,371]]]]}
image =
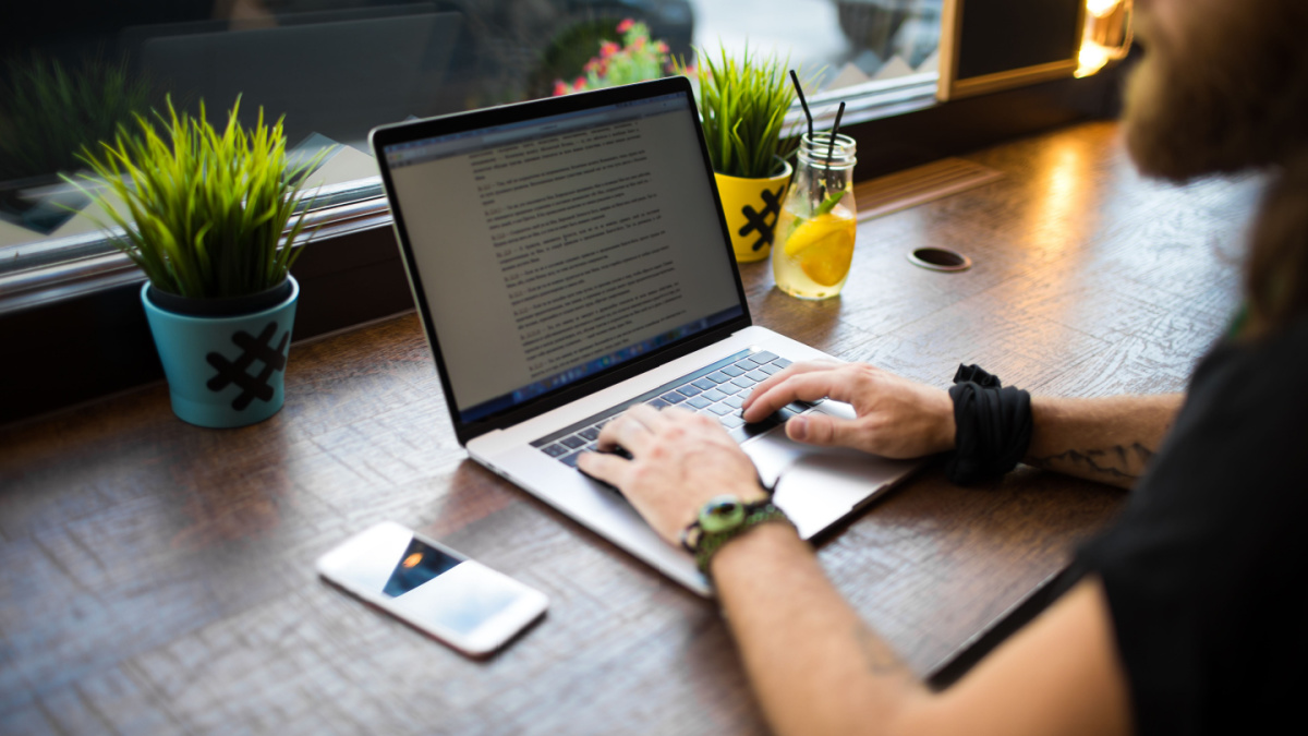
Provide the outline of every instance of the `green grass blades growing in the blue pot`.
{"type": "Polygon", "coordinates": [[[280,284],[300,254],[293,245],[309,212],[298,207],[302,181],[328,151],[290,166],[283,119],[268,126],[260,107],[245,128],[239,107],[237,98],[220,131],[203,101],[191,117],[167,100],[166,115],[136,114],[137,130],[119,126],[112,143],[82,148],[94,177],[64,175],[122,228],[114,245],[156,288],[192,299],[258,293],[280,284]]]}

